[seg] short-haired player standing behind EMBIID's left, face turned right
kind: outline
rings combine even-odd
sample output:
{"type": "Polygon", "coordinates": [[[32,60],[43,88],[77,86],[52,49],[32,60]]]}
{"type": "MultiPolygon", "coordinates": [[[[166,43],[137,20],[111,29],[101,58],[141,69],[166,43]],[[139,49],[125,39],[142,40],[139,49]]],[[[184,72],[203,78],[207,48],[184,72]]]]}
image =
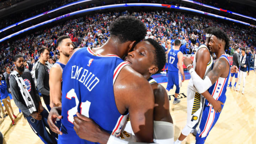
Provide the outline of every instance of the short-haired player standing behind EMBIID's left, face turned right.
{"type": "Polygon", "coordinates": [[[58,107],[62,105],[62,72],[68,62],[69,55],[73,52],[73,42],[64,35],[57,39],[57,49],[60,53],[59,60],[52,66],[49,73],[50,86],[50,107],[58,107]]]}

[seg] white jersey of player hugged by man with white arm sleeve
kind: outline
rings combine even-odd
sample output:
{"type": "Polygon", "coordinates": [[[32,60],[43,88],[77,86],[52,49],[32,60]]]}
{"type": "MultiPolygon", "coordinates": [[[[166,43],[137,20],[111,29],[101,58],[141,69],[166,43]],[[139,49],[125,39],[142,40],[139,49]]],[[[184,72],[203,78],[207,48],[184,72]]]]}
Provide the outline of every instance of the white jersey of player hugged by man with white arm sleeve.
{"type": "MultiPolygon", "coordinates": [[[[206,48],[206,49],[209,51],[209,49],[207,48],[207,46],[206,46],[205,44],[202,44],[202,45],[198,48],[198,50],[201,49],[201,48],[206,48]]],[[[197,52],[198,52],[198,50],[197,50],[197,52]]],[[[196,53],[197,53],[197,52],[196,52],[196,53]]],[[[204,74],[204,77],[208,74],[208,72],[209,72],[210,70],[212,70],[212,64],[213,64],[213,58],[212,58],[212,55],[210,55],[210,62],[207,64],[206,72],[205,72],[205,74],[204,74]]],[[[195,54],[194,60],[193,60],[193,68],[196,69],[196,54],[195,54]]],[[[204,79],[204,77],[203,77],[203,79],[204,79]]],[[[195,91],[195,92],[198,92],[198,91],[196,90],[196,88],[194,87],[194,85],[193,85],[193,80],[192,80],[192,79],[190,79],[190,80],[188,81],[188,88],[190,88],[191,90],[193,90],[193,91],[195,91]]]]}

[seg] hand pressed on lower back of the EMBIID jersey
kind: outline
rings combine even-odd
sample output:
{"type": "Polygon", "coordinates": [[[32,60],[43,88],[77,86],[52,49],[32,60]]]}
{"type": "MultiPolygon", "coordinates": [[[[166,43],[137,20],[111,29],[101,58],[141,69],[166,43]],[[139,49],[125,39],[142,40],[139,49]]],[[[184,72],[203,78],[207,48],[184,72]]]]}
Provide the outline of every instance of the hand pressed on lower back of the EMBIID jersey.
{"type": "Polygon", "coordinates": [[[81,139],[86,139],[90,142],[106,144],[110,134],[105,132],[91,118],[88,118],[78,112],[77,117],[74,117],[74,130],[81,139]]]}

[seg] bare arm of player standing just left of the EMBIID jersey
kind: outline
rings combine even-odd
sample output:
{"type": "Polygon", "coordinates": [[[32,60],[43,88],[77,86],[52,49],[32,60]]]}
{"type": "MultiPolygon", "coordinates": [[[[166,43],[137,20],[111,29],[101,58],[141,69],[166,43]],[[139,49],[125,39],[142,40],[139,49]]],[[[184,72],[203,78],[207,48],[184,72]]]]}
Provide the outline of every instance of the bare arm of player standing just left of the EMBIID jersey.
{"type": "Polygon", "coordinates": [[[54,65],[50,69],[49,73],[49,86],[50,86],[50,99],[51,102],[54,103],[54,106],[62,106],[61,102],[61,79],[62,79],[62,71],[59,66],[54,65]]]}

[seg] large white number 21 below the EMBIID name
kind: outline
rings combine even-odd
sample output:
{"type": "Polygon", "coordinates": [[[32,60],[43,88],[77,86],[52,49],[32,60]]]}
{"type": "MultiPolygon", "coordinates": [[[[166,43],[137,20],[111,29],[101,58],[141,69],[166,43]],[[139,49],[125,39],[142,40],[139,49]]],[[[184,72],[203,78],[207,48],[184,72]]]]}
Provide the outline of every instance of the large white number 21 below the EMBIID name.
{"type": "MultiPolygon", "coordinates": [[[[74,121],[74,115],[78,111],[78,105],[79,105],[79,100],[78,100],[78,97],[75,93],[75,89],[71,89],[66,95],[66,98],[68,98],[69,100],[71,100],[72,97],[75,98],[76,105],[75,105],[75,107],[68,110],[68,121],[71,122],[71,123],[73,123],[73,121],[74,121]]],[[[86,102],[81,102],[81,105],[80,105],[81,111],[80,111],[80,113],[82,115],[86,116],[86,117],[89,117],[90,105],[91,105],[91,102],[89,102],[87,100],[86,100],[86,102]]]]}

